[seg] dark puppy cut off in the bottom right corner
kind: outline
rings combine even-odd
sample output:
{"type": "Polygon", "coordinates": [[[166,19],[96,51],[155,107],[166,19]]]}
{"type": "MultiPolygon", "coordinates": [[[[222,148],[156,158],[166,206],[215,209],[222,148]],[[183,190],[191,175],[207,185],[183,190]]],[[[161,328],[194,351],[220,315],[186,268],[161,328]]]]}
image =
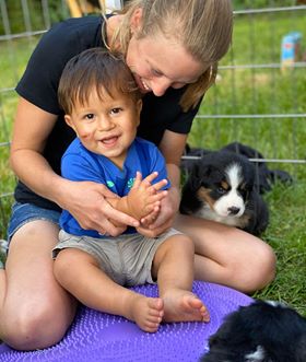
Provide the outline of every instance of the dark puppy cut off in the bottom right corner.
{"type": "Polygon", "coordinates": [[[257,301],[225,317],[200,362],[305,362],[306,318],[276,302],[257,301]]]}

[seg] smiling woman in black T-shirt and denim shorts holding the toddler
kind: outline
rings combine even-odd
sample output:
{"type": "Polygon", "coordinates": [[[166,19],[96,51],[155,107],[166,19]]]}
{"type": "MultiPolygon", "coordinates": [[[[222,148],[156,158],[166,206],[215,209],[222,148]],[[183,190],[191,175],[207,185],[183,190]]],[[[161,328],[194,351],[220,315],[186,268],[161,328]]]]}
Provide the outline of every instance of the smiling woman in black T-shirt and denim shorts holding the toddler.
{"type": "Polygon", "coordinates": [[[179,161],[201,98],[232,35],[229,0],[133,0],[107,20],[89,16],[54,26],[40,40],[17,84],[11,165],[20,182],[9,226],[5,271],[0,270],[0,338],[22,350],[58,342],[75,315],[75,301],[56,282],[51,249],[61,208],[83,229],[119,235],[132,218],[114,210],[103,185],[59,176],[74,133],[57,101],[61,71],[74,55],[105,47],[125,55],[143,92],[138,135],[158,145],[173,190],[142,233],[174,225],[196,247],[196,279],[250,292],[274,277],[275,258],[260,240],[236,229],[177,214],[179,161]],[[115,220],[115,226],[109,220],[115,220]],[[119,225],[118,225],[119,224],[119,225]]]}

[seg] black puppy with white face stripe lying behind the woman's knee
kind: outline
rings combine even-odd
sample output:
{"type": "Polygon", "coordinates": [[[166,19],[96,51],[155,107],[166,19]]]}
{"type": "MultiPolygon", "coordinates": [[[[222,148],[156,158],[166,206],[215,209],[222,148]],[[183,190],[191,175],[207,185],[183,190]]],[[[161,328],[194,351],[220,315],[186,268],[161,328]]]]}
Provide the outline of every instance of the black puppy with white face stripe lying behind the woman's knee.
{"type": "Polygon", "coordinates": [[[192,163],[183,187],[180,212],[259,235],[269,212],[255,178],[255,166],[243,155],[226,150],[203,154],[192,163]]]}

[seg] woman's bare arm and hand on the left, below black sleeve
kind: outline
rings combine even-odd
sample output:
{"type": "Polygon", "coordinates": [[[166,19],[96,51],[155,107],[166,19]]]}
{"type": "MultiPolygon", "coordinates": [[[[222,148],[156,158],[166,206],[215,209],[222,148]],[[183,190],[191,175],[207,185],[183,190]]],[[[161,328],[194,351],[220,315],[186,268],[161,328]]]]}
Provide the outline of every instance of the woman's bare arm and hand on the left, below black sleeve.
{"type": "Polygon", "coordinates": [[[105,200],[114,197],[104,185],[74,183],[57,175],[43,151],[57,116],[20,98],[13,128],[10,162],[16,176],[34,192],[69,210],[84,229],[110,235],[120,234],[108,219],[119,224],[138,226],[133,218],[121,213],[105,200]]]}

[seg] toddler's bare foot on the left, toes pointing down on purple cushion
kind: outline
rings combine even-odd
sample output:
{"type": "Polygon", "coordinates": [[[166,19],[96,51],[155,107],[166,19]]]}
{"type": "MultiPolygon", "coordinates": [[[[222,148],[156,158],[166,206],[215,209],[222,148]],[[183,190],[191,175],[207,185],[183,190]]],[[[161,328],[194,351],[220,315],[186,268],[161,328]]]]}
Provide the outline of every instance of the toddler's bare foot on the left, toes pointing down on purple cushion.
{"type": "Polygon", "coordinates": [[[160,297],[146,297],[136,294],[127,305],[126,317],[134,322],[144,331],[156,331],[163,315],[164,303],[160,297]]]}

